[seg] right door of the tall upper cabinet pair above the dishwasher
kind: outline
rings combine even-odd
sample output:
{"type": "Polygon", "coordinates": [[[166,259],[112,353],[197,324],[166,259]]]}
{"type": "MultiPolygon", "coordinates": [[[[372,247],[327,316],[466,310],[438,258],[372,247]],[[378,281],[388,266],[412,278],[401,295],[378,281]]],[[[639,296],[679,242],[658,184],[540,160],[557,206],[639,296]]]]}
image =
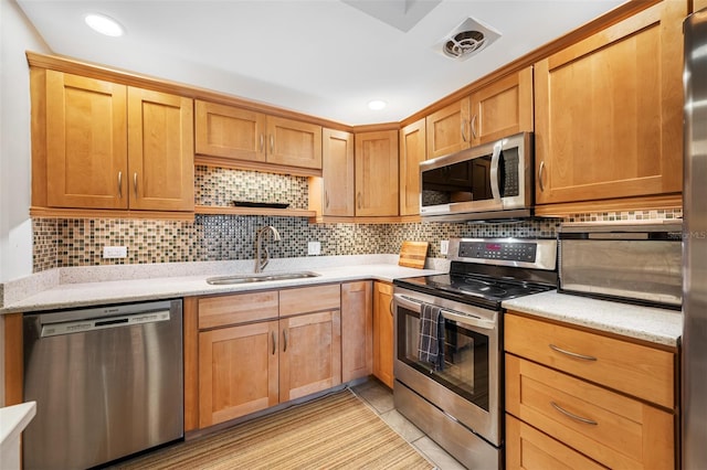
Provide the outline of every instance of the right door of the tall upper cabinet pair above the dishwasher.
{"type": "Polygon", "coordinates": [[[193,211],[193,104],[128,88],[130,209],[193,211]]]}

